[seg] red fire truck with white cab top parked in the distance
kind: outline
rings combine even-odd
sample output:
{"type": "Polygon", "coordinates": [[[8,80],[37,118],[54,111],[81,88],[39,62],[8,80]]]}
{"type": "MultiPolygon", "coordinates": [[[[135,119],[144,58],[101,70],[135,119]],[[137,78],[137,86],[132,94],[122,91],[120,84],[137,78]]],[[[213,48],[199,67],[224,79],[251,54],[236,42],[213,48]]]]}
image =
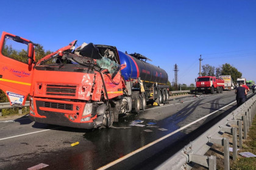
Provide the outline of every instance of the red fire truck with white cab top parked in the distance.
{"type": "Polygon", "coordinates": [[[204,76],[196,78],[196,91],[205,92],[205,94],[222,93],[224,89],[224,80],[213,76],[204,76]]]}

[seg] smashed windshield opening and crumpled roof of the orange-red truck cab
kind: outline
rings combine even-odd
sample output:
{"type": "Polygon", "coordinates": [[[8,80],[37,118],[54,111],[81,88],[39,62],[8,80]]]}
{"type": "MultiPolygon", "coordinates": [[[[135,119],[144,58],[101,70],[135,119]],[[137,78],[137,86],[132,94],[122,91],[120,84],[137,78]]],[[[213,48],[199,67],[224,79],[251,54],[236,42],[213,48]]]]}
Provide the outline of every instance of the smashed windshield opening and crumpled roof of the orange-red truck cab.
{"type": "Polygon", "coordinates": [[[97,66],[107,69],[112,77],[121,69],[118,64],[118,56],[111,46],[95,46],[93,43],[85,42],[73,52],[62,52],[52,55],[50,58],[41,61],[38,66],[65,66],[66,64],[80,64],[84,67],[97,66]]]}

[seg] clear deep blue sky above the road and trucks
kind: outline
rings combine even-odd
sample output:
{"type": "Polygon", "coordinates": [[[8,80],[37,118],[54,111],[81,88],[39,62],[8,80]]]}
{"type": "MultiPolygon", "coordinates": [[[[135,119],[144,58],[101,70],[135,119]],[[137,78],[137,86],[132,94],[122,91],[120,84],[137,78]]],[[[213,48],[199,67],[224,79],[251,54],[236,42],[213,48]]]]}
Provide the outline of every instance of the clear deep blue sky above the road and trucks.
{"type": "Polygon", "coordinates": [[[256,1],[2,0],[0,31],[55,51],[74,39],[141,53],[190,85],[202,64],[229,63],[256,81],[256,1]]]}

